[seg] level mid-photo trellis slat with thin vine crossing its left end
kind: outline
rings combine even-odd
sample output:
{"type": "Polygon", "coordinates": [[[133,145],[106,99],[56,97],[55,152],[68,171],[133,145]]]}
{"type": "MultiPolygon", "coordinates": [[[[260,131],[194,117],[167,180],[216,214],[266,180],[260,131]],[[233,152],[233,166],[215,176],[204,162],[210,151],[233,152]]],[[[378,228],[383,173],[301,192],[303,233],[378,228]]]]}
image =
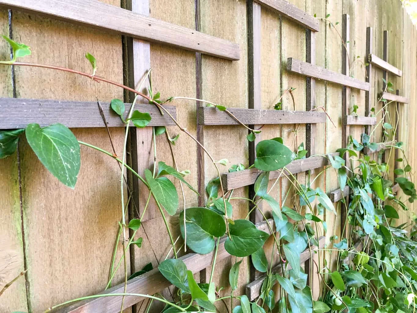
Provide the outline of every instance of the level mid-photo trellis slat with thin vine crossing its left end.
{"type": "MultiPolygon", "coordinates": [[[[326,121],[324,112],[281,111],[258,109],[227,109],[246,125],[253,124],[317,124],[326,121]]],[[[239,125],[230,114],[213,107],[200,107],[197,111],[199,125],[239,125]]]]}

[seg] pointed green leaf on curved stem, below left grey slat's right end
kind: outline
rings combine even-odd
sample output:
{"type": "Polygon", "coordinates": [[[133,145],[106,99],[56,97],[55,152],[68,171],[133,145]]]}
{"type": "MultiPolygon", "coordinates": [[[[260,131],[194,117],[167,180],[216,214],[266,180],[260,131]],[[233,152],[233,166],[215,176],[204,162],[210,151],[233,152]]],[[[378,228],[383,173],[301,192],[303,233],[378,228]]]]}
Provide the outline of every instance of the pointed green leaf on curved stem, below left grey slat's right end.
{"type": "Polygon", "coordinates": [[[178,209],[178,192],[174,184],[166,177],[153,178],[148,169],[145,169],[145,178],[156,200],[169,215],[174,215],[178,209]]]}

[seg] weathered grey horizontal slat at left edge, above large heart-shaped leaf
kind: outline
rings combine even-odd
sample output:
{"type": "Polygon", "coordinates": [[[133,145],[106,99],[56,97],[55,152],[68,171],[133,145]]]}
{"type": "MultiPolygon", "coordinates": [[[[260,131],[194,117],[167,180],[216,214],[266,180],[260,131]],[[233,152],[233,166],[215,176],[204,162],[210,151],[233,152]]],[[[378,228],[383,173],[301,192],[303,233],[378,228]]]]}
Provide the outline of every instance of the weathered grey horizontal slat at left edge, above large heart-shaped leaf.
{"type": "MultiPolygon", "coordinates": [[[[101,106],[109,127],[126,126],[110,109],[110,103],[102,102],[101,106]]],[[[131,103],[126,103],[125,106],[125,116],[127,116],[131,103]]],[[[176,117],[175,106],[164,107],[176,117]]],[[[151,115],[152,119],[148,126],[175,125],[168,114],[161,115],[153,104],[137,104],[135,109],[151,115]]],[[[30,123],[37,123],[40,126],[61,123],[70,128],[106,126],[97,102],[0,98],[0,129],[25,128],[30,123]]]]}

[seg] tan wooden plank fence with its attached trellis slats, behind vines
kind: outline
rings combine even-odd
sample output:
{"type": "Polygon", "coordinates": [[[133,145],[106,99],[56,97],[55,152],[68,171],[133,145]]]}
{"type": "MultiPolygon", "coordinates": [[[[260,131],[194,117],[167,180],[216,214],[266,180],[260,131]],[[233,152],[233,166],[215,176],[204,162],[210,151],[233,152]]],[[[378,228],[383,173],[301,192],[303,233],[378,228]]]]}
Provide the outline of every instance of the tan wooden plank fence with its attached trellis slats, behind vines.
{"type": "MultiPolygon", "coordinates": [[[[172,114],[214,159],[227,158],[230,164],[247,166],[261,139],[279,136],[291,149],[304,142],[308,157],[288,167],[299,181],[306,179],[306,171],[313,177],[321,172],[328,160],[317,154],[346,146],[350,135],[360,141],[364,131],[369,134],[376,127],[373,141],[382,141],[381,116],[370,114],[372,107],[376,111],[382,108],[378,98],[384,78],[397,90],[383,95],[397,101],[389,108],[399,121],[396,139],[404,142],[409,162],[416,166],[417,33],[399,0],[123,0],[122,6],[116,0],[0,0],[0,31],[32,48],[25,61],[88,72],[84,54],[90,52],[98,60],[98,74],[131,87],[152,68],[153,88],[163,98],[203,98],[227,106],[245,124],[263,125],[262,133],[251,143],[246,140],[246,129],[225,112],[196,101],[173,101],[172,114]],[[277,102],[282,111],[273,110],[277,102]],[[358,106],[357,116],[352,114],[354,105],[358,106]]],[[[5,41],[0,43],[0,54],[2,60],[10,59],[5,41]]],[[[0,76],[0,129],[61,122],[72,127],[79,140],[111,151],[97,97],[116,154],[121,154],[123,125],[108,109],[112,98],[133,100],[121,88],[45,68],[2,66],[0,76]]],[[[153,106],[146,105],[146,111],[153,116],[149,126],[165,125],[171,136],[179,133],[153,106]]],[[[151,137],[151,127],[131,132],[130,162],[139,173],[153,164],[151,137]]],[[[157,146],[157,159],[172,164],[165,138],[158,137],[157,146]]],[[[382,143],[378,147],[386,151],[387,160],[394,153],[388,146],[382,143]]],[[[75,190],[52,177],[24,140],[14,156],[0,160],[0,288],[27,270],[0,297],[1,313],[43,312],[105,288],[120,218],[120,168],[96,151],[82,147],[81,153],[75,190]]],[[[216,171],[201,147],[180,136],[174,154],[178,168],[191,171],[187,180],[203,195],[216,171]]],[[[394,161],[390,166],[396,166],[394,161]]],[[[235,197],[252,194],[257,169],[224,172],[224,186],[234,189],[235,197]]],[[[279,171],[271,172],[269,178],[278,175],[279,171]]],[[[334,202],[349,192],[337,190],[331,170],[315,184],[334,202]]],[[[139,197],[143,186],[131,179],[129,188],[133,191],[132,218],[144,205],[139,197]]],[[[274,197],[282,201],[288,189],[289,182],[281,179],[274,197]]],[[[186,190],[186,207],[203,203],[203,197],[186,190]]],[[[321,246],[329,236],[337,235],[330,230],[340,231],[344,219],[340,202],[337,207],[336,217],[325,216],[329,232],[319,240],[321,246]]],[[[236,201],[233,210],[234,217],[244,218],[248,203],[236,201]]],[[[268,215],[269,208],[263,210],[268,215]]],[[[142,248],[128,251],[131,273],[149,262],[156,268],[169,252],[168,234],[156,213],[151,205],[143,219],[138,234],[143,237],[142,248]]],[[[413,216],[411,204],[398,223],[409,223],[413,216]]],[[[258,215],[251,220],[269,231],[258,215]]],[[[172,228],[178,236],[179,227],[172,228]]],[[[271,244],[269,240],[267,245],[271,244]]],[[[119,249],[118,257],[121,255],[119,249]]],[[[303,261],[308,258],[306,253],[301,257],[303,261]]],[[[189,253],[182,259],[201,282],[208,280],[211,254],[189,253]]],[[[233,263],[221,245],[217,286],[228,286],[233,263]]],[[[251,268],[248,258],[241,268],[238,292],[252,300],[259,295],[263,278],[251,268]]],[[[115,280],[123,281],[122,271],[115,280]]],[[[121,292],[122,286],[115,285],[108,292],[121,292]]],[[[169,298],[173,289],[168,286],[155,269],[129,280],[128,292],[162,292],[169,298]]],[[[116,297],[89,300],[60,312],[117,312],[120,301],[116,297]]],[[[130,312],[135,305],[133,311],[143,312],[143,302],[127,297],[126,310],[130,312]]],[[[221,305],[219,310],[226,311],[221,305]]]]}

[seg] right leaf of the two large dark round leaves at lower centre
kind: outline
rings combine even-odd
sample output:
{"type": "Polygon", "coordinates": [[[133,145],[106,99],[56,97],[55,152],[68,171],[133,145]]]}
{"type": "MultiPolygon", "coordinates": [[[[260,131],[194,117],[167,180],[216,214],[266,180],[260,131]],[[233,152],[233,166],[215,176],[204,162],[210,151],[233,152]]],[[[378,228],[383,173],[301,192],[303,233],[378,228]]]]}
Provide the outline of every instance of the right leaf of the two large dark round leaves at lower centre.
{"type": "Polygon", "coordinates": [[[248,220],[235,220],[234,224],[229,224],[230,237],[226,239],[224,248],[231,255],[237,257],[247,257],[259,250],[269,235],[258,230],[256,226],[248,220]]]}

